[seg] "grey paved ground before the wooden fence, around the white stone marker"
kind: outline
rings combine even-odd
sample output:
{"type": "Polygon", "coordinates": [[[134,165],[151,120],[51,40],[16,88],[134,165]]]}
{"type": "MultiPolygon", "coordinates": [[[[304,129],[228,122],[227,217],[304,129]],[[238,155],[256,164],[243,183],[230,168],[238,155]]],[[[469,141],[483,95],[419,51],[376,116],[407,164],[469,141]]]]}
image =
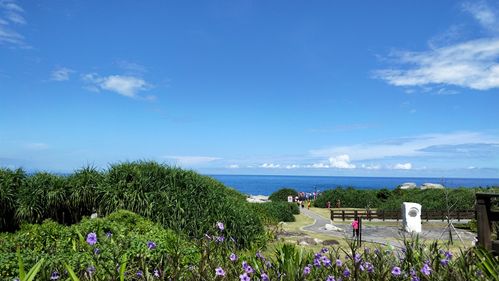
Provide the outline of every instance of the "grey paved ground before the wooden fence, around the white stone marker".
{"type": "MultiPolygon", "coordinates": [[[[352,237],[352,228],[350,226],[351,222],[334,222],[334,225],[342,228],[343,231],[331,231],[326,230],[325,225],[331,224],[331,220],[326,219],[319,214],[307,210],[306,208],[300,209],[301,213],[314,219],[314,223],[308,226],[303,227],[302,229],[305,231],[311,231],[315,233],[327,234],[330,235],[331,238],[351,238],[352,237]]],[[[441,225],[441,223],[440,223],[441,225]]],[[[448,232],[442,235],[442,232],[445,230],[445,227],[431,226],[431,223],[427,224],[428,227],[423,226],[423,231],[420,234],[420,237],[423,239],[441,239],[447,240],[449,235],[448,232]]],[[[465,243],[471,243],[475,234],[464,231],[457,230],[461,238],[465,243]]],[[[459,238],[455,235],[455,232],[452,232],[453,238],[457,241],[459,238]]],[[[373,226],[373,225],[364,225],[362,227],[362,241],[380,243],[385,245],[393,245],[393,246],[401,246],[401,239],[404,232],[400,230],[400,227],[395,226],[373,226]],[[394,239],[395,238],[395,239],[394,239]]]]}

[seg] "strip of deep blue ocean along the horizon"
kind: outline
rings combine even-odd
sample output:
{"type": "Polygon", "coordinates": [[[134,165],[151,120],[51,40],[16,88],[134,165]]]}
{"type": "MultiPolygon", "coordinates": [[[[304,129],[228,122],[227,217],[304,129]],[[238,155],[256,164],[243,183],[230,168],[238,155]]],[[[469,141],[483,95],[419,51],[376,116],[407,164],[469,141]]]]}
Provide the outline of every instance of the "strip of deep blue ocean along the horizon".
{"type": "Polygon", "coordinates": [[[439,183],[445,187],[488,187],[499,186],[499,179],[480,178],[392,178],[392,177],[321,177],[321,176],[256,176],[256,175],[210,175],[226,186],[244,194],[270,195],[289,187],[297,191],[315,192],[336,187],[358,189],[394,189],[402,183],[439,183]]]}

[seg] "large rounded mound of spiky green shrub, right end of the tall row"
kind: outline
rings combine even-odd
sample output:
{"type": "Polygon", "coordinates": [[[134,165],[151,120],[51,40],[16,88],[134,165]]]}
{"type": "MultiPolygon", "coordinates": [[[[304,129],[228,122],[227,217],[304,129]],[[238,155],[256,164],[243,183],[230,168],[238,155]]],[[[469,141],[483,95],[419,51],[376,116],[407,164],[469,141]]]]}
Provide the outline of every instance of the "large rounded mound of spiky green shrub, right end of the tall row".
{"type": "Polygon", "coordinates": [[[111,166],[98,188],[100,210],[136,212],[164,227],[201,238],[223,221],[241,247],[264,234],[263,224],[238,192],[193,171],[155,162],[111,166]]]}

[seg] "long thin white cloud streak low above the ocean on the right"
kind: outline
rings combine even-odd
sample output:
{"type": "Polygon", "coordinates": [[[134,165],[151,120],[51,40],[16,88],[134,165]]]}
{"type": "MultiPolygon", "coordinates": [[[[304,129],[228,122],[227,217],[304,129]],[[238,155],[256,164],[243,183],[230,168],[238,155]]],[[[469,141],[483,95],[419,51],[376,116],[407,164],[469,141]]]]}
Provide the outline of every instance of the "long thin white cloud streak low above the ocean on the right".
{"type": "Polygon", "coordinates": [[[430,147],[452,145],[499,144],[498,136],[479,132],[453,132],[448,134],[424,134],[374,143],[333,146],[310,151],[313,156],[348,155],[355,161],[374,160],[388,157],[427,156],[436,151],[425,151],[430,147]]]}

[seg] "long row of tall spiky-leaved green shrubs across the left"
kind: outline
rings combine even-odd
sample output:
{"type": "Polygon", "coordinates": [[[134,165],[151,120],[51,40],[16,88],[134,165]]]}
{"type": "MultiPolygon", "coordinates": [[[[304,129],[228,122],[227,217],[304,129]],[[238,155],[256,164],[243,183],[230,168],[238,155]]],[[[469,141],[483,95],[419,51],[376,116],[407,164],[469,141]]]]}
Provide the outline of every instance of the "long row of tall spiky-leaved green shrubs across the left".
{"type": "Polygon", "coordinates": [[[210,177],[155,162],[121,163],[104,172],[84,168],[68,177],[2,169],[0,202],[6,206],[0,210],[0,231],[45,219],[70,225],[93,212],[125,209],[194,238],[224,221],[240,247],[259,243],[264,235],[242,194],[210,177]]]}

